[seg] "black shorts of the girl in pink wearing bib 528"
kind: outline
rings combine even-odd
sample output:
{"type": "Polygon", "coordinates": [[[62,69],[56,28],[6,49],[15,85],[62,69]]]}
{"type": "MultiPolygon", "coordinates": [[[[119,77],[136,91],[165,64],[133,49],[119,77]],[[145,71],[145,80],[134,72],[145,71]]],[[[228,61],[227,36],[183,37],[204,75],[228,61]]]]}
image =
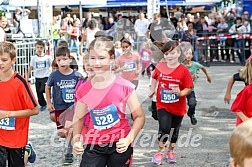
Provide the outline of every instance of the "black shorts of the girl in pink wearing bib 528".
{"type": "Polygon", "coordinates": [[[130,145],[124,153],[116,151],[116,143],[87,145],[82,155],[80,167],[130,167],[133,147],[130,145]]]}

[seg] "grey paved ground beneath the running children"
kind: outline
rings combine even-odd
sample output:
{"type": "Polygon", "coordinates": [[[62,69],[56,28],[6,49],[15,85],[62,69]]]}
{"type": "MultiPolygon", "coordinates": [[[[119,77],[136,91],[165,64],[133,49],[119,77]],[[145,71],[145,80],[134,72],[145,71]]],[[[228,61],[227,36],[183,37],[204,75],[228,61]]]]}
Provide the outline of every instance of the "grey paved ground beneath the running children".
{"type": "MultiPolygon", "coordinates": [[[[170,165],[166,162],[162,166],[176,167],[225,167],[229,157],[228,138],[235,127],[235,115],[229,111],[230,105],[223,102],[225,88],[230,76],[237,72],[239,66],[207,68],[212,77],[209,84],[202,72],[199,74],[196,85],[198,100],[197,118],[198,124],[192,126],[185,116],[180,138],[177,143],[177,164],[170,165]]],[[[148,94],[147,77],[141,78],[137,90],[141,101],[148,94]]],[[[236,94],[243,88],[242,83],[236,83],[232,91],[232,101],[236,94]]],[[[157,122],[152,119],[147,106],[151,100],[143,103],[146,113],[146,123],[141,135],[136,140],[134,150],[134,167],[152,167],[150,160],[154,155],[157,145],[157,122]]],[[[60,167],[62,166],[63,141],[56,135],[56,127],[49,119],[47,111],[31,118],[29,139],[33,142],[37,152],[37,161],[29,166],[34,167],[60,167]]],[[[76,157],[75,164],[78,166],[80,158],[76,157]]]]}

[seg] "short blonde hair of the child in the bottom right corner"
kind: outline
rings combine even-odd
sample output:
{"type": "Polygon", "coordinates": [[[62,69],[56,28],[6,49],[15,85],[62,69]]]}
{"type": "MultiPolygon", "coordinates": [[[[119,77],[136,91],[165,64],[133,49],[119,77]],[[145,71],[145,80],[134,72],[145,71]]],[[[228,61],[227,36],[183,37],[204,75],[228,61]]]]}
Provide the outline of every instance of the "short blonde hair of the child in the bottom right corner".
{"type": "Polygon", "coordinates": [[[244,160],[252,158],[252,119],[234,129],[229,140],[229,149],[235,166],[244,167],[244,160]]]}

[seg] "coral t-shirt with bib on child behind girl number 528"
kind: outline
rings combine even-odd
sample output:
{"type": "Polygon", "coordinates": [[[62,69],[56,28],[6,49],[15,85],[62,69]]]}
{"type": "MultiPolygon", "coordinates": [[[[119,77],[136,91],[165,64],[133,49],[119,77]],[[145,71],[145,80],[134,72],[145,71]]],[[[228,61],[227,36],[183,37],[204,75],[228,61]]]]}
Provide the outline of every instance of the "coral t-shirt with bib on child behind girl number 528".
{"type": "Polygon", "coordinates": [[[137,66],[139,64],[139,56],[132,54],[130,57],[119,56],[116,60],[116,64],[123,67],[127,64],[127,68],[122,71],[122,77],[128,81],[139,80],[139,75],[136,74],[137,66]]]}

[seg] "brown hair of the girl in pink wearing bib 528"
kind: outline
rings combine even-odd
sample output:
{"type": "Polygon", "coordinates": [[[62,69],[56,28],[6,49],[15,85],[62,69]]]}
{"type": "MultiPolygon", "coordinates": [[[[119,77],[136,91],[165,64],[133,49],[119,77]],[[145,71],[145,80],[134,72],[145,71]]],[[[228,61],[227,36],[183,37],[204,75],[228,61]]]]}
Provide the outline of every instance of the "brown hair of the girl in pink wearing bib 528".
{"type": "Polygon", "coordinates": [[[115,48],[114,48],[114,43],[110,38],[107,37],[98,37],[94,39],[88,47],[88,51],[90,50],[103,50],[107,51],[111,57],[114,59],[115,55],[115,48]]]}

